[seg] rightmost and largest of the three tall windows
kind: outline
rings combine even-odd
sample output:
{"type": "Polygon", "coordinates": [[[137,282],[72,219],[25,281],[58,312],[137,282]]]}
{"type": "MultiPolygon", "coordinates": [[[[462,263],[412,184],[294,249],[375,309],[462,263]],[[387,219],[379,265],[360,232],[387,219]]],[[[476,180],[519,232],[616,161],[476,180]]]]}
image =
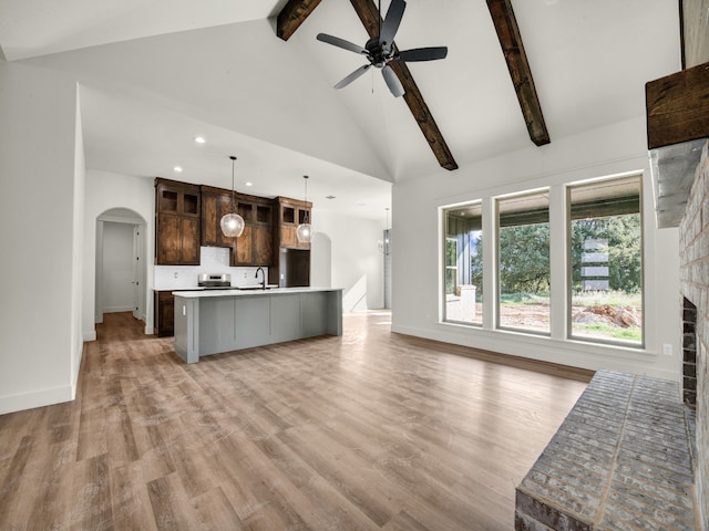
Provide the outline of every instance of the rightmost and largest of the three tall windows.
{"type": "Polygon", "coordinates": [[[640,177],[572,186],[569,335],[643,343],[640,177]]]}

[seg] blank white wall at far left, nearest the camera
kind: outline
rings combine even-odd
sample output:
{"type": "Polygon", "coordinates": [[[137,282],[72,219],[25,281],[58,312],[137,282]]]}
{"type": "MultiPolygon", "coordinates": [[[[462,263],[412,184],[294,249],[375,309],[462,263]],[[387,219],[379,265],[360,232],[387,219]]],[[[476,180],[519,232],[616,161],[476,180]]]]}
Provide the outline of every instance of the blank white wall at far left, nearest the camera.
{"type": "Polygon", "coordinates": [[[0,62],[0,414],[73,398],[81,288],[72,267],[82,160],[76,85],[0,62]]]}

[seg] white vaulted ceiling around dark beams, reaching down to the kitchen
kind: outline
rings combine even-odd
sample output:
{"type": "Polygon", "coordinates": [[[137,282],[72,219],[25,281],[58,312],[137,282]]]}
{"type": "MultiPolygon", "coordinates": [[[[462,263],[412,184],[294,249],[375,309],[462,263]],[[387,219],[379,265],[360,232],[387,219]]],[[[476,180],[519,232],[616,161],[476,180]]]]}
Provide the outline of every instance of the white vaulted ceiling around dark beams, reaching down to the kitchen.
{"type": "MultiPolygon", "coordinates": [[[[228,188],[234,154],[242,191],[300,197],[308,174],[316,207],[382,219],[391,183],[445,179],[379,72],[332,88],[362,58],[315,37],[363,44],[350,2],[323,0],[287,42],[273,18],[284,4],[0,0],[0,46],[78,79],[92,169],[228,188]]],[[[552,143],[643,115],[645,83],[680,67],[674,0],[513,6],[552,143]]],[[[483,0],[409,0],[395,41],[449,46],[409,67],[459,166],[531,144],[483,0]]]]}

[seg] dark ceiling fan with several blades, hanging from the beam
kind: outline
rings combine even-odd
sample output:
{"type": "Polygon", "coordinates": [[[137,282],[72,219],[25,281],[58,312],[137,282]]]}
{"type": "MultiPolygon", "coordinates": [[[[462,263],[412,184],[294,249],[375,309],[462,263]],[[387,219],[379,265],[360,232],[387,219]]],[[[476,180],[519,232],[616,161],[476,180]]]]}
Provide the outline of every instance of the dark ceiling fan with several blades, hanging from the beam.
{"type": "MultiPolygon", "coordinates": [[[[340,81],[335,88],[342,88],[362,75],[369,70],[370,66],[376,66],[381,70],[381,74],[387,82],[387,86],[391,91],[394,97],[402,96],[404,93],[401,82],[391,66],[388,64],[390,61],[413,62],[413,61],[434,61],[436,59],[444,59],[448,55],[448,46],[429,46],[429,48],[414,48],[411,50],[394,50],[394,35],[401,23],[403,11],[407,9],[405,0],[392,0],[389,9],[387,10],[387,17],[384,23],[379,18],[379,35],[372,37],[364,48],[353,44],[339,37],[328,35],[327,33],[318,33],[318,41],[327,42],[333,46],[342,48],[354,53],[360,53],[367,58],[369,64],[360,66],[354,72],[349,74],[342,81],[340,81]]],[[[381,0],[379,0],[379,12],[381,13],[381,0]]]]}

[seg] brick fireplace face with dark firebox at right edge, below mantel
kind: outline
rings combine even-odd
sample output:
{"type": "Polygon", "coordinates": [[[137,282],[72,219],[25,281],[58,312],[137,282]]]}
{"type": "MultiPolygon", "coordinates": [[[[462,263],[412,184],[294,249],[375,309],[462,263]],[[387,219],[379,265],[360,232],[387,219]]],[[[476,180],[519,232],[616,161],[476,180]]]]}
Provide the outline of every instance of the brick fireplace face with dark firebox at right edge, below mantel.
{"type": "Polygon", "coordinates": [[[709,143],[705,142],[680,223],[682,399],[697,408],[695,488],[700,529],[709,530],[709,143]],[[695,323],[692,324],[692,317],[695,323]],[[693,330],[692,330],[693,329],[693,330]],[[693,337],[692,337],[693,335],[693,337]],[[692,400],[695,404],[692,404],[692,400]]]}

